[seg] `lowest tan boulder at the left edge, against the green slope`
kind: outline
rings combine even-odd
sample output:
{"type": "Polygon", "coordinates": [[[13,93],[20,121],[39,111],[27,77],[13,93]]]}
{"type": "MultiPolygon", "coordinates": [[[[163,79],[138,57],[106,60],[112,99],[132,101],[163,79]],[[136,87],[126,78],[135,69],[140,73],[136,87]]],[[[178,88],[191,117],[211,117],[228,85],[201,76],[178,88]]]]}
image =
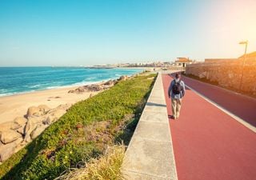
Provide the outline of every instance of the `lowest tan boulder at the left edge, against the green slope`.
{"type": "MultiPolygon", "coordinates": [[[[16,141],[0,146],[0,162],[6,161],[12,154],[15,153],[15,148],[22,142],[22,138],[18,138],[16,141]]],[[[16,151],[17,152],[17,151],[16,151]]]]}

